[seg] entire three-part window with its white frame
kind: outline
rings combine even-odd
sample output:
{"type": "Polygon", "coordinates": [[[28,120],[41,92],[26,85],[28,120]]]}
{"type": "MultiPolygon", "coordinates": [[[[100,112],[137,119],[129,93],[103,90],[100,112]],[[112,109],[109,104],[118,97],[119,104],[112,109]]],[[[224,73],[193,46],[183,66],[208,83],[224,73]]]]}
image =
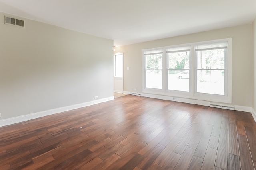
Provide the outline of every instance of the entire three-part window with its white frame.
{"type": "Polygon", "coordinates": [[[231,103],[231,39],[143,50],[142,93],[231,103]]]}

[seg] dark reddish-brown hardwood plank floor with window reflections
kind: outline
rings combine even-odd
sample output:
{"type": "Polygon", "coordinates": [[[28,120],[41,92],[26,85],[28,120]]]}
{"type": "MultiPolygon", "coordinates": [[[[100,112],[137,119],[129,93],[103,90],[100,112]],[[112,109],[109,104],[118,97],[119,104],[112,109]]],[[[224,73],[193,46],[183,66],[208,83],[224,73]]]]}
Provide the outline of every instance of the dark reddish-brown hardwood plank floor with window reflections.
{"type": "Polygon", "coordinates": [[[126,95],[0,127],[0,169],[254,170],[251,113],[126,95]]]}

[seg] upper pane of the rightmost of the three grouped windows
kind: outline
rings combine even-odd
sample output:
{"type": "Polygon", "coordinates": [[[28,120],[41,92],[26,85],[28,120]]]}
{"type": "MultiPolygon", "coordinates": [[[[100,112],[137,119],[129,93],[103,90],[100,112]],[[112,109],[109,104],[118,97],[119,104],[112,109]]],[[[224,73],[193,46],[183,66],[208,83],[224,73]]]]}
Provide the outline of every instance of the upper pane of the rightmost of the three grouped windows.
{"type": "Polygon", "coordinates": [[[215,49],[197,52],[198,69],[224,69],[225,49],[215,49]]]}

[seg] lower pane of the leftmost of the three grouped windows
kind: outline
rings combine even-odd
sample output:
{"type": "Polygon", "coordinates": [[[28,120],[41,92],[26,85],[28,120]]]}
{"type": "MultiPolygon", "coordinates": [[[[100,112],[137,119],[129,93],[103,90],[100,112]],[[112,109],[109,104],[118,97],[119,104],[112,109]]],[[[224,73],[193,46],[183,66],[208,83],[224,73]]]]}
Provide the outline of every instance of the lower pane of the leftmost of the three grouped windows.
{"type": "Polygon", "coordinates": [[[146,88],[162,89],[162,70],[146,70],[146,88]]]}

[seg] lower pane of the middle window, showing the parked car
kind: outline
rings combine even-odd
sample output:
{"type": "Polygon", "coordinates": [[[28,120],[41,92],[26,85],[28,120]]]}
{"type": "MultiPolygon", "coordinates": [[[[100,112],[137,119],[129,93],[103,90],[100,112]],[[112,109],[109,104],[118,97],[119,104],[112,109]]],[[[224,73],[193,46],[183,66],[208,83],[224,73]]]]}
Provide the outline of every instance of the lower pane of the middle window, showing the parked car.
{"type": "Polygon", "coordinates": [[[168,90],[189,91],[189,70],[169,70],[168,90]]]}

